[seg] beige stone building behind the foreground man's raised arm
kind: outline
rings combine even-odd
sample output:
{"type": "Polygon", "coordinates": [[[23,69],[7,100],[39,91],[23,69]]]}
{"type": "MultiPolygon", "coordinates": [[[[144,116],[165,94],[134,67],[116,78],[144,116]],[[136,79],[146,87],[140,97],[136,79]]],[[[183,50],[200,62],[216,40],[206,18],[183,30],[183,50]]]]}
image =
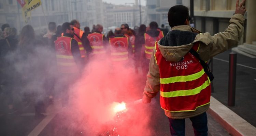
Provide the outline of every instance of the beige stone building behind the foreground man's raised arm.
{"type": "MultiPolygon", "coordinates": [[[[239,42],[240,46],[232,49],[249,57],[256,57],[256,31],[252,29],[256,24],[255,5],[255,0],[246,1],[244,35],[239,42]]],[[[196,28],[211,35],[224,32],[235,10],[236,1],[234,0],[194,0],[196,28]]]]}

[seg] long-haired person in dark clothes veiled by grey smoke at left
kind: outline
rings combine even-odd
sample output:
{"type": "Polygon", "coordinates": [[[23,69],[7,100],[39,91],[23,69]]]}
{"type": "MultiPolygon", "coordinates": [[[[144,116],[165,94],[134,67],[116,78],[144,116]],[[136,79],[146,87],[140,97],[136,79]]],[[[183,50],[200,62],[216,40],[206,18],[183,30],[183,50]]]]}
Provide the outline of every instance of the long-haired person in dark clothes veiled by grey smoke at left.
{"type": "Polygon", "coordinates": [[[43,42],[35,38],[31,25],[22,28],[19,35],[16,68],[20,75],[24,107],[29,107],[32,97],[35,98],[35,117],[42,117],[45,111],[43,98],[45,97],[44,82],[47,67],[47,49],[43,42]]]}

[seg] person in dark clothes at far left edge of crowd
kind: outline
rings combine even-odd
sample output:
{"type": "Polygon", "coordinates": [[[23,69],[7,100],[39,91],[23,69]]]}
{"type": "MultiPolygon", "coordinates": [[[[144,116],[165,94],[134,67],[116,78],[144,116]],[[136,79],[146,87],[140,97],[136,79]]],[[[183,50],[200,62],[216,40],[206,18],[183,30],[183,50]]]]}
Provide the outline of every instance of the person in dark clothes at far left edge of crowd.
{"type": "MultiPolygon", "coordinates": [[[[8,105],[8,114],[17,112],[17,106],[14,101],[15,96],[15,70],[14,63],[12,62],[11,55],[16,50],[18,39],[16,38],[15,28],[4,28],[3,36],[4,39],[0,40],[0,89],[3,90],[4,97],[3,101],[8,105]],[[2,89],[3,88],[3,89],[2,89]]],[[[1,104],[3,104],[1,101],[1,104]]],[[[3,113],[0,113],[3,114],[3,113]]]]}

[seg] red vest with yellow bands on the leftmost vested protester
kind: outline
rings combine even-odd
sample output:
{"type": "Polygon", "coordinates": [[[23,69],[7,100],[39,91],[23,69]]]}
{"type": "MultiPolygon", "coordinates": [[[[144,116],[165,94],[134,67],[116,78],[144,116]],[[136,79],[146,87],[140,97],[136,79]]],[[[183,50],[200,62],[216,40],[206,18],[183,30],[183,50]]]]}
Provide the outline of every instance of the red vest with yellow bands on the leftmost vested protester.
{"type": "Polygon", "coordinates": [[[54,41],[58,71],[61,73],[78,72],[77,65],[71,52],[72,39],[73,38],[62,36],[54,41]]]}

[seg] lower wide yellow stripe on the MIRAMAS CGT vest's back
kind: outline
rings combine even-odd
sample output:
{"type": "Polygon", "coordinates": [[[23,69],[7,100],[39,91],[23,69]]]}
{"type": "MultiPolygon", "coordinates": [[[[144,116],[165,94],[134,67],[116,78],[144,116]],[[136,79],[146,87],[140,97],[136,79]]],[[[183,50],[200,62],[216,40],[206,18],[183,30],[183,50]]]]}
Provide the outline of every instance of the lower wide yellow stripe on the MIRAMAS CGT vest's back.
{"type": "Polygon", "coordinates": [[[189,90],[177,90],[177,91],[169,91],[169,92],[160,92],[161,97],[170,98],[170,97],[178,97],[178,96],[192,96],[199,94],[201,90],[205,89],[207,86],[210,85],[209,80],[205,81],[201,86],[195,89],[189,90]]]}

